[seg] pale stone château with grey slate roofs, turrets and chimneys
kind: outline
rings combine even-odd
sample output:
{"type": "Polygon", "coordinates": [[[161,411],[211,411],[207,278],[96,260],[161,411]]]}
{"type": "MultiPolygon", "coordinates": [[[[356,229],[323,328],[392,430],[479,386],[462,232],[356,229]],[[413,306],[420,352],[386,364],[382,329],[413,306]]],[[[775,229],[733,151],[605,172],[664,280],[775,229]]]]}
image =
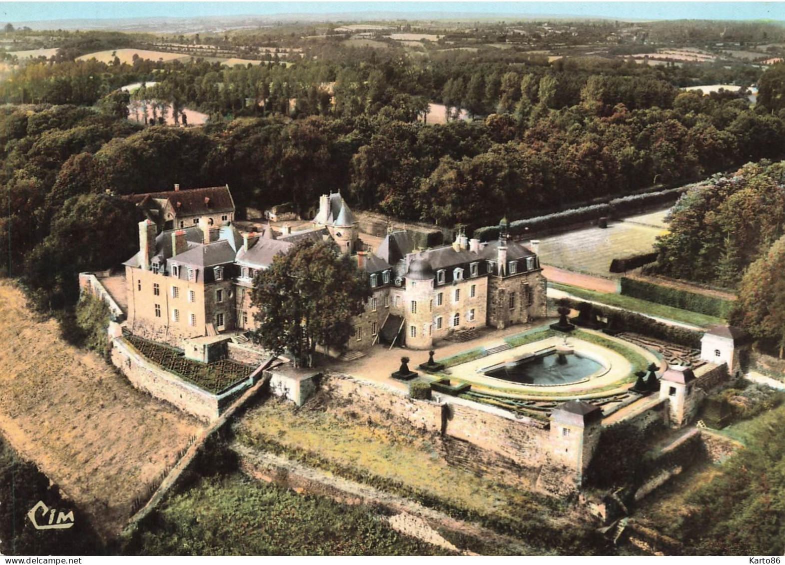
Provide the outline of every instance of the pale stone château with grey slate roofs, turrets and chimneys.
{"type": "MultiPolygon", "coordinates": [[[[373,295],[354,320],[352,349],[379,341],[427,349],[456,331],[504,328],[545,315],[539,261],[509,240],[506,221],[494,242],[469,240],[459,232],[450,246],[415,250],[406,231],[392,231],[368,253],[357,250],[358,223],[340,194],[319,199],[311,228],[285,229],[276,237],[269,227],[261,235],[240,234],[232,220],[217,221],[217,214],[234,214],[217,202],[212,215],[184,215],[199,210],[197,202],[214,198],[191,202],[181,197],[197,191],[215,189],[176,190],[140,200],[145,206],[164,205],[157,218],[141,221],[139,251],[125,263],[128,325],[135,334],[181,346],[188,338],[254,329],[254,275],[301,239],[332,239],[344,253],[356,253],[358,268],[368,275],[373,295]]],[[[231,202],[231,195],[225,200],[231,202]]]]}

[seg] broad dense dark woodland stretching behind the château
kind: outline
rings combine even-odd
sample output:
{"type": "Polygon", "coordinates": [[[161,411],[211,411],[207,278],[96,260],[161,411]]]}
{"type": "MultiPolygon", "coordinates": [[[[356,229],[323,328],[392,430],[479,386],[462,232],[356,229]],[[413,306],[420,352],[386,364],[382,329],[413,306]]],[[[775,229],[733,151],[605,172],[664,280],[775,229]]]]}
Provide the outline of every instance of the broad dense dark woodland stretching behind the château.
{"type": "MultiPolygon", "coordinates": [[[[681,92],[688,75],[714,72],[696,65],[418,59],[328,42],[316,60],[229,68],[103,64],[71,60],[71,49],[20,66],[0,87],[11,103],[0,110],[0,262],[45,310],[73,304],[79,270],[133,253],[133,213],[116,195],[228,184],[241,210],[294,202],[305,212],[341,191],[358,209],[477,228],[778,158],[785,140],[782,65],[763,75],[752,108],[743,93],[681,92]],[[135,98],[210,121],[129,122],[116,89],[146,81],[157,84],[135,98]],[[474,119],[430,125],[431,102],[474,119]]],[[[745,72],[749,83],[759,71],[745,72]]]]}

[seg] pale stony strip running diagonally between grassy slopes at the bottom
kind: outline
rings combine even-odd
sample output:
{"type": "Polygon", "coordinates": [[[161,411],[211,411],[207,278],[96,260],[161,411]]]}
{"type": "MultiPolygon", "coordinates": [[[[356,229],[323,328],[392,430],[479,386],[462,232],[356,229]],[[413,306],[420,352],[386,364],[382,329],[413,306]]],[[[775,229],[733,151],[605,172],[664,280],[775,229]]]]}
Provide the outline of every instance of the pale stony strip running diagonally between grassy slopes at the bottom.
{"type": "MultiPolygon", "coordinates": [[[[283,482],[297,492],[323,494],[344,504],[381,504],[393,509],[403,516],[392,520],[392,527],[402,526],[401,530],[408,535],[436,543],[444,548],[452,549],[451,544],[441,538],[431,524],[445,527],[461,534],[484,540],[488,544],[500,545],[510,555],[542,555],[524,542],[509,536],[496,534],[492,530],[447,516],[444,512],[426,508],[408,498],[389,494],[365,484],[355,483],[342,477],[323,472],[320,469],[301,465],[263,451],[253,450],[239,442],[232,443],[232,449],[239,455],[241,468],[248,476],[265,482],[280,482],[276,477],[286,477],[283,482]],[[403,529],[405,528],[405,530],[403,529]]],[[[399,514],[399,516],[400,516],[399,514]]],[[[397,529],[397,528],[396,528],[397,529]]],[[[460,548],[458,548],[460,549],[460,548]]],[[[464,555],[470,552],[463,551],[464,555]]]]}

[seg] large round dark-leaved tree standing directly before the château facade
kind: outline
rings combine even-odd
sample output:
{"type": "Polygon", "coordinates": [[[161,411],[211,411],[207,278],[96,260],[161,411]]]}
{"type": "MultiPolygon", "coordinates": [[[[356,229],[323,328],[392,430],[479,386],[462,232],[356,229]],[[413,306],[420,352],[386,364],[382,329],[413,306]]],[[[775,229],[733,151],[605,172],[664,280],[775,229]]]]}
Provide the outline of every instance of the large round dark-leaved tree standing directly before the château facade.
{"type": "Polygon", "coordinates": [[[300,242],[276,255],[254,278],[254,341],[276,354],[290,352],[296,366],[312,366],[316,345],[345,348],[352,316],[371,296],[367,277],[333,242],[300,242]]]}

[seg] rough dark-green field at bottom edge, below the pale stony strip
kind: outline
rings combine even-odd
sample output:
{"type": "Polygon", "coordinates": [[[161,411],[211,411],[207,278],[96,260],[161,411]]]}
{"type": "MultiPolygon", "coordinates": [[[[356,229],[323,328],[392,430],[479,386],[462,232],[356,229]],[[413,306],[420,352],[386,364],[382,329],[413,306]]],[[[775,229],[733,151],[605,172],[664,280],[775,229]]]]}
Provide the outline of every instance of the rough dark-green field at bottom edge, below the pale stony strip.
{"type": "Polygon", "coordinates": [[[139,555],[449,555],[364,505],[302,496],[238,473],[199,480],[158,511],[139,555]]]}

